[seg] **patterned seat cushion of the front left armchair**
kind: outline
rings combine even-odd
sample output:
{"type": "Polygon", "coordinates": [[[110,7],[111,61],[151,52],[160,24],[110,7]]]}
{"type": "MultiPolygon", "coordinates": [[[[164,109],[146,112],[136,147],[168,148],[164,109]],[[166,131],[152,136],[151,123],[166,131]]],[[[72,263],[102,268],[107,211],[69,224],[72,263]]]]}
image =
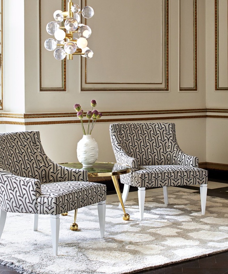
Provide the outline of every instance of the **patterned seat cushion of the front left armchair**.
{"type": "Polygon", "coordinates": [[[58,215],[106,200],[106,185],[94,182],[53,182],[41,185],[38,214],[58,215]]]}

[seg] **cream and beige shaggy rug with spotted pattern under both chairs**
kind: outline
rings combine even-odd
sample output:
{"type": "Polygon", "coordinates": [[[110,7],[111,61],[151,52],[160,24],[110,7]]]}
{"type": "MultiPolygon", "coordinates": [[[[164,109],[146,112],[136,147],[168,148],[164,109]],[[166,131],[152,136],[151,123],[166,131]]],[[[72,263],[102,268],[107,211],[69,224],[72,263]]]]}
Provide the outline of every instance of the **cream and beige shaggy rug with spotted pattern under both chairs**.
{"type": "Polygon", "coordinates": [[[137,192],[129,196],[130,221],[123,221],[117,196],[108,195],[103,239],[96,205],[78,210],[76,232],[69,230],[73,211],[61,216],[58,256],[52,255],[48,215],[33,231],[32,214],[8,214],[0,264],[24,274],[122,274],[228,250],[228,200],[207,197],[202,216],[199,194],[177,189],[165,205],[162,194],[150,191],[140,221],[137,192]]]}

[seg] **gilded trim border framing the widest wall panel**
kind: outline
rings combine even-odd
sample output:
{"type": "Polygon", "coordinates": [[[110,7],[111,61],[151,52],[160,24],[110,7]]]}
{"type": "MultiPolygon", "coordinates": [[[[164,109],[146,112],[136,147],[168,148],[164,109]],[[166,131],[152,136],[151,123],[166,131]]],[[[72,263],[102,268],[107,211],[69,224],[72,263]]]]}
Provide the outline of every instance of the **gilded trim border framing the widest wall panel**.
{"type": "MultiPolygon", "coordinates": [[[[81,57],[81,91],[169,91],[169,0],[165,1],[165,87],[161,88],[82,88],[82,57],[81,57]]],[[[81,0],[82,6],[82,0],[81,0]]],[[[85,0],[87,6],[87,0],[85,0]]],[[[86,21],[85,21],[86,24],[86,21]]],[[[103,83],[103,82],[87,82],[87,59],[84,58],[85,71],[84,71],[84,84],[162,84],[162,83],[103,83]]]]}

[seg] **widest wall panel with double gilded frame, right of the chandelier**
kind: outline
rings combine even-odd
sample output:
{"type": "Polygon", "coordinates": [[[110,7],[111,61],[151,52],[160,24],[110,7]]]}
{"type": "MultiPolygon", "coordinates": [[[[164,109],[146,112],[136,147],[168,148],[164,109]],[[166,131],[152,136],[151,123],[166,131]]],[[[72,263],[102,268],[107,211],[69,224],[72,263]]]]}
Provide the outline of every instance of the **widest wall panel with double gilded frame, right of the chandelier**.
{"type": "Polygon", "coordinates": [[[82,21],[91,27],[94,56],[81,57],[82,92],[169,90],[168,0],[116,0],[118,11],[112,1],[81,0],[83,6],[94,9],[82,21]]]}

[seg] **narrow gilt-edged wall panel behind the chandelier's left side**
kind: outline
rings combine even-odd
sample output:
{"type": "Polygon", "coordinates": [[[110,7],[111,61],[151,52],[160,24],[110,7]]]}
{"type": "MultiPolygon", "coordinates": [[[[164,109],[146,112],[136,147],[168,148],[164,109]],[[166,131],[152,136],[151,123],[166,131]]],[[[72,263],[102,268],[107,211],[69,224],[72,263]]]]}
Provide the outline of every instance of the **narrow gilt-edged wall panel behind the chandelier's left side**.
{"type": "Polygon", "coordinates": [[[44,48],[44,41],[53,38],[46,32],[47,23],[54,21],[53,12],[66,11],[65,0],[39,0],[39,79],[40,91],[66,91],[66,58],[56,60],[53,51],[44,48]]]}

